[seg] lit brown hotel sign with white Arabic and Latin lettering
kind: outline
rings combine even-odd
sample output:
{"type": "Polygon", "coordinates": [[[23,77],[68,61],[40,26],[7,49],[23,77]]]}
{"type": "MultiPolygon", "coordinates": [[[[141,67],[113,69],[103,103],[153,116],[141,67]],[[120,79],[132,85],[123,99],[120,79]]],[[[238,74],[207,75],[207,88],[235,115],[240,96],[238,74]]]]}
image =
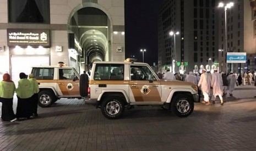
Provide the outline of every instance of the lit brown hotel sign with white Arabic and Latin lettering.
{"type": "Polygon", "coordinates": [[[50,30],[39,29],[7,29],[7,45],[15,47],[50,47],[50,30]]]}

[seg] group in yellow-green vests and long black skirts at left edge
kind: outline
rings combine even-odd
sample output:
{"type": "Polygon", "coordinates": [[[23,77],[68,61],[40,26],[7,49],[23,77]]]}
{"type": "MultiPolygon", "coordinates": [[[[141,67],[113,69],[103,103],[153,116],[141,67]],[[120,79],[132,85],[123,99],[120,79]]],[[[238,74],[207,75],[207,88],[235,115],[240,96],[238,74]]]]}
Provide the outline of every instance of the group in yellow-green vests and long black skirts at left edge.
{"type": "Polygon", "coordinates": [[[37,100],[39,86],[33,74],[19,74],[18,88],[10,80],[8,73],[3,74],[3,80],[0,82],[0,102],[2,102],[2,120],[15,121],[17,119],[31,119],[37,117],[37,100]],[[13,111],[13,96],[17,94],[17,110],[13,111]]]}

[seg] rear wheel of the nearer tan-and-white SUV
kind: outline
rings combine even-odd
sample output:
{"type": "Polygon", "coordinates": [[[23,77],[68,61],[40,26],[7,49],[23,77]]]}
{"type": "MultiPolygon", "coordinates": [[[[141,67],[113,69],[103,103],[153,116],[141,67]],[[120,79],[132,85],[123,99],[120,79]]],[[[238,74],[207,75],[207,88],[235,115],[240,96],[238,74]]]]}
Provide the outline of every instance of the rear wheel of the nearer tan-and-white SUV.
{"type": "Polygon", "coordinates": [[[106,97],[101,104],[101,112],[108,119],[118,119],[124,112],[124,103],[118,97],[106,97]]]}

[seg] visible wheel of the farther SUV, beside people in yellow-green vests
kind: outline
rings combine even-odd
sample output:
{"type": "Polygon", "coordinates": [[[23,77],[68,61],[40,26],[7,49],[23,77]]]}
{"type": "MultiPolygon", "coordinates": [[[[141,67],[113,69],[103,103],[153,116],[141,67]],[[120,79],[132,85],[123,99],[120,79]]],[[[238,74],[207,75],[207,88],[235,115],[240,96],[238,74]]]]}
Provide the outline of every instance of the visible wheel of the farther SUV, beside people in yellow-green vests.
{"type": "Polygon", "coordinates": [[[38,94],[38,105],[40,107],[50,107],[56,101],[56,96],[50,90],[43,90],[38,94]]]}

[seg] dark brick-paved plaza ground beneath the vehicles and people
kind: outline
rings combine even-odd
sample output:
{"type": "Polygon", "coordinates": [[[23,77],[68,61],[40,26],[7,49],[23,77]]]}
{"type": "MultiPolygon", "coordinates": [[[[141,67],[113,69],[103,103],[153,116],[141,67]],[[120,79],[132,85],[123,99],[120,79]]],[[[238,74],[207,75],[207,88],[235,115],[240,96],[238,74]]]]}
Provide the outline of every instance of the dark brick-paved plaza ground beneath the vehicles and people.
{"type": "Polygon", "coordinates": [[[224,106],[195,103],[187,118],[148,106],[117,120],[93,102],[61,99],[39,107],[39,118],[0,120],[0,150],[256,150],[255,95],[254,86],[238,86],[224,106]]]}

